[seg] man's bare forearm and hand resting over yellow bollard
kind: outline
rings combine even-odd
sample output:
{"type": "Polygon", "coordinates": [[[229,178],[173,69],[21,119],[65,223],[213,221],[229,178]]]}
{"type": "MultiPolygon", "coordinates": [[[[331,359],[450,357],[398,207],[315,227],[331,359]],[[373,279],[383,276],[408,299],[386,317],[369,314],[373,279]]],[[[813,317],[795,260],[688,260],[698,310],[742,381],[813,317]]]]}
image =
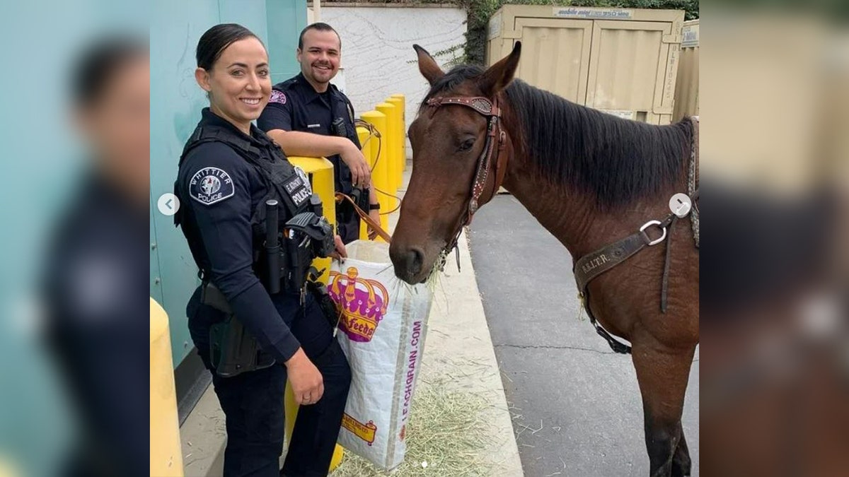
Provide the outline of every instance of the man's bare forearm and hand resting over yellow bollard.
{"type": "Polygon", "coordinates": [[[283,149],[286,155],[328,157],[339,154],[351,169],[351,180],[354,185],[368,186],[371,183],[371,170],[368,168],[363,151],[357,147],[357,144],[351,143],[347,137],[283,129],[272,129],[267,132],[267,135],[280,145],[280,149],[283,149]]]}

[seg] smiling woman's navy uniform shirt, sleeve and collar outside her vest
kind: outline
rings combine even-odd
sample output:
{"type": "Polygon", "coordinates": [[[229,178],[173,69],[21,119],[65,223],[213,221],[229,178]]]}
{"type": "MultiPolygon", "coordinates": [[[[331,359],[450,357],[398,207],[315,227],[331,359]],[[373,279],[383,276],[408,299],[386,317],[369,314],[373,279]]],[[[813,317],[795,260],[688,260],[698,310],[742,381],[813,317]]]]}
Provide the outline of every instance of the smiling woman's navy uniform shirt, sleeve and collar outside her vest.
{"type": "MultiPolygon", "coordinates": [[[[273,157],[273,143],[256,126],[246,136],[230,122],[203,109],[200,126],[227,128],[252,146],[273,157]]],[[[278,362],[288,361],[301,346],[291,333],[293,317],[281,317],[272,297],[256,276],[253,251],[256,244],[251,214],[267,194],[260,171],[226,143],[206,142],[191,149],[177,174],[181,226],[194,261],[220,289],[233,314],[256,337],[263,350],[278,362]]]]}

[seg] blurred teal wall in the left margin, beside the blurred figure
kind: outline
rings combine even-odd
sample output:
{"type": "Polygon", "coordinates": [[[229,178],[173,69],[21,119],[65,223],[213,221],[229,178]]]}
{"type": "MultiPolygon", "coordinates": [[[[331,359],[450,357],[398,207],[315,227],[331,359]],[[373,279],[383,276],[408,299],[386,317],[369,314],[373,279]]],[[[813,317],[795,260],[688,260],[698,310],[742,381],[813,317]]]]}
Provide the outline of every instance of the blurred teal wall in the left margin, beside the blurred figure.
{"type": "Polygon", "coordinates": [[[38,299],[39,279],[53,265],[44,262],[45,247],[61,239],[56,221],[76,202],[91,158],[68,108],[71,65],[84,45],[108,31],[147,35],[147,7],[115,0],[0,2],[0,461],[12,475],[66,473],[70,446],[78,442],[79,417],[68,401],[74,381],[47,352],[38,299]]]}

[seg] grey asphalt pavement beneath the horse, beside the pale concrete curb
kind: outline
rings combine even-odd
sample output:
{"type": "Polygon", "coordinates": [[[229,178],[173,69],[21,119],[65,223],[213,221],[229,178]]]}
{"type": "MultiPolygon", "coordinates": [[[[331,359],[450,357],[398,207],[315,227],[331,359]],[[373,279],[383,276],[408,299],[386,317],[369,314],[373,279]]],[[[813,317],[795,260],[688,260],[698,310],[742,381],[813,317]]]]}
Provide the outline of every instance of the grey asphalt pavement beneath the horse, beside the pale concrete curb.
{"type": "MultiPolygon", "coordinates": [[[[630,356],[595,334],[571,256],[520,203],[498,195],[476,215],[470,248],[527,477],[649,474],[630,356]]],[[[699,475],[699,352],[684,403],[699,475]]]]}

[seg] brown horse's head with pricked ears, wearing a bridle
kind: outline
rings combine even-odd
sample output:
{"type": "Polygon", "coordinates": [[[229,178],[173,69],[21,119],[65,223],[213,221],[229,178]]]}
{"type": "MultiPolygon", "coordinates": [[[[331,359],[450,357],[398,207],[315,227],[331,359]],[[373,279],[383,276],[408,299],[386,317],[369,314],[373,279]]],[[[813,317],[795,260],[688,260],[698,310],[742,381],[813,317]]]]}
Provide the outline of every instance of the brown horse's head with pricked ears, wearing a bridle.
{"type": "Polygon", "coordinates": [[[504,173],[503,166],[496,171],[497,163],[512,149],[498,122],[498,98],[513,80],[521,46],[516,42],[507,58],[487,70],[458,66],[448,73],[430,53],[413,48],[430,92],[408,132],[413,175],[390,255],[398,278],[421,283],[471,214],[497,192],[497,176],[504,173]]]}

